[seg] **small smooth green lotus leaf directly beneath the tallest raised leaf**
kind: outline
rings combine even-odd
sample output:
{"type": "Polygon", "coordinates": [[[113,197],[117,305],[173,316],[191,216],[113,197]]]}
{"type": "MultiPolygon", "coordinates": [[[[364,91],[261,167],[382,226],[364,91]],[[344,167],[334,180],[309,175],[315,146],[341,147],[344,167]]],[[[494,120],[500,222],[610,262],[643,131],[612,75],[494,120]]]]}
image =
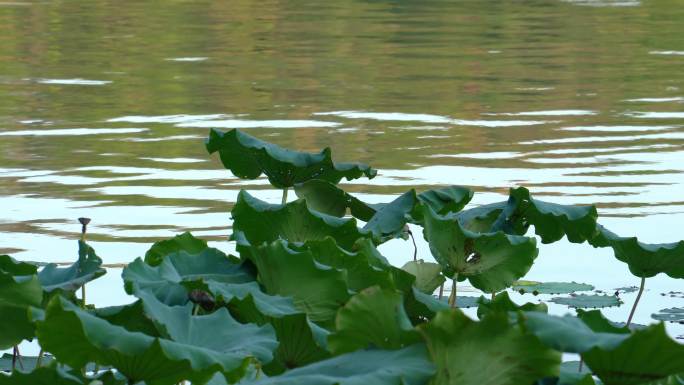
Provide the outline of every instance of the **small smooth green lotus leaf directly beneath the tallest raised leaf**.
{"type": "Polygon", "coordinates": [[[334,184],[320,179],[295,185],[295,193],[309,208],[320,213],[343,217],[347,208],[354,218],[368,222],[384,204],[362,202],[334,184]]]}

